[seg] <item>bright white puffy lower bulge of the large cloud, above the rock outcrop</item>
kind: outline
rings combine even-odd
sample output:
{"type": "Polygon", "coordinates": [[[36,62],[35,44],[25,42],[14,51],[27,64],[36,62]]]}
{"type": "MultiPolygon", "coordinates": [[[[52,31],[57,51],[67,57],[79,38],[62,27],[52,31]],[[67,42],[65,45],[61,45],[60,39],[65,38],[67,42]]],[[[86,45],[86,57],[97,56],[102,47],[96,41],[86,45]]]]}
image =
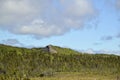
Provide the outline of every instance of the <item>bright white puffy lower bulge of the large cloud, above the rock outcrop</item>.
{"type": "Polygon", "coordinates": [[[34,20],[31,24],[13,29],[17,34],[31,34],[40,37],[50,37],[51,35],[61,35],[64,29],[56,25],[48,25],[42,20],[34,20]]]}

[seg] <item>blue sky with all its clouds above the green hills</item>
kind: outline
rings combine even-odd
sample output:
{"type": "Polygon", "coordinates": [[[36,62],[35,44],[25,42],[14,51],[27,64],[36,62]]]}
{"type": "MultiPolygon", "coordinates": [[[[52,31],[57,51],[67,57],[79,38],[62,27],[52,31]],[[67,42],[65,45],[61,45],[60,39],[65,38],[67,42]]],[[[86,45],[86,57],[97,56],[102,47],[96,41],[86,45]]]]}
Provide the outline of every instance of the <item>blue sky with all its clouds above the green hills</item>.
{"type": "Polygon", "coordinates": [[[0,0],[0,44],[120,55],[120,0],[0,0]]]}

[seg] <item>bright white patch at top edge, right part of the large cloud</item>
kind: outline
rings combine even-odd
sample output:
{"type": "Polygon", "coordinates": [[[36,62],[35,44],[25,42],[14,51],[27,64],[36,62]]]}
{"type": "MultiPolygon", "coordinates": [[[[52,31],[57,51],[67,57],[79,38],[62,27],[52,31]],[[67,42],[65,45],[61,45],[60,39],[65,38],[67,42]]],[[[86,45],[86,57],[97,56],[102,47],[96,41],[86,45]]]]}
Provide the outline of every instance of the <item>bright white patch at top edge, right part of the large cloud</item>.
{"type": "Polygon", "coordinates": [[[76,17],[84,17],[94,14],[94,8],[90,0],[61,0],[65,7],[67,15],[76,17]]]}

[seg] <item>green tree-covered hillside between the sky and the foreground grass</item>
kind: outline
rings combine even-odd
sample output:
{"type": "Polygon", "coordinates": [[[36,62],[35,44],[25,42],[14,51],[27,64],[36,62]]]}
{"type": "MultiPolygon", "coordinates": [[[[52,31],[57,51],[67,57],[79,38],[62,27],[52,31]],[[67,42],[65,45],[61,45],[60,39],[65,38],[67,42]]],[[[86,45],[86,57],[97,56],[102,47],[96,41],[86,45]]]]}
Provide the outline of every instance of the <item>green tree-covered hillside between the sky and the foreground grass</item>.
{"type": "Polygon", "coordinates": [[[53,45],[31,49],[0,45],[0,80],[51,76],[54,72],[120,75],[120,56],[82,54],[53,45]]]}

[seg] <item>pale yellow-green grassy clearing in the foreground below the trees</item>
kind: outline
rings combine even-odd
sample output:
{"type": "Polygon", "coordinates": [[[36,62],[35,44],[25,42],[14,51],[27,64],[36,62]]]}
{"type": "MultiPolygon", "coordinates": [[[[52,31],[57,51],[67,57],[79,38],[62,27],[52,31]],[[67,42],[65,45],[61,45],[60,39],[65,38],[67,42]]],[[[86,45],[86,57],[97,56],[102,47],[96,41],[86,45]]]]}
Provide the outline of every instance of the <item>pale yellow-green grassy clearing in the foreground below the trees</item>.
{"type": "MultiPolygon", "coordinates": [[[[78,72],[57,73],[53,77],[31,78],[31,80],[117,80],[118,75],[98,75],[78,72]]],[[[119,80],[119,79],[118,79],[119,80]]]]}

